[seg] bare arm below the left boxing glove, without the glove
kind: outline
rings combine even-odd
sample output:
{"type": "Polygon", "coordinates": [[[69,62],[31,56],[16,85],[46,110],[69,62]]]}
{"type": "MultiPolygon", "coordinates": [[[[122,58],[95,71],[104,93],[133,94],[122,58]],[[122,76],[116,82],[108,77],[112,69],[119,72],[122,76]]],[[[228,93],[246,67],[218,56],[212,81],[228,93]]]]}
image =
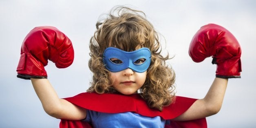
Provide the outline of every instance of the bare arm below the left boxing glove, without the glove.
{"type": "Polygon", "coordinates": [[[47,114],[58,119],[80,120],[86,117],[86,109],[60,99],[48,79],[33,79],[31,82],[47,114]]]}

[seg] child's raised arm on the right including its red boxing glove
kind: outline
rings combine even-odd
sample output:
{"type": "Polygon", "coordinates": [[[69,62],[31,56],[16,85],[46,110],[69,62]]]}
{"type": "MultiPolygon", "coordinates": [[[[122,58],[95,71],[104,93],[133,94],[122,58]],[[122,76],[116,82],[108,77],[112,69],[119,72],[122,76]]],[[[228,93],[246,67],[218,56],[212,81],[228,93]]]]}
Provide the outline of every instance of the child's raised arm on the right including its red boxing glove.
{"type": "Polygon", "coordinates": [[[241,47],[232,33],[222,26],[207,24],[194,35],[189,48],[194,62],[213,57],[217,64],[216,78],[203,99],[198,99],[175,120],[192,120],[208,117],[221,109],[228,78],[240,78],[241,47]]]}

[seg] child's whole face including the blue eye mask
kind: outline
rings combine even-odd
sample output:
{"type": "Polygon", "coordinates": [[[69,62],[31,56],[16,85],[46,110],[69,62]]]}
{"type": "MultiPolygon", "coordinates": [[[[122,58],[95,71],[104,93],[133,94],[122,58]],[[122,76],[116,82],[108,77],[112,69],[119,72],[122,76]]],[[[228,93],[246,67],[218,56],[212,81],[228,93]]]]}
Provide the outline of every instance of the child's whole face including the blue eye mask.
{"type": "Polygon", "coordinates": [[[148,48],[127,52],[108,47],[103,53],[103,60],[105,67],[110,71],[113,88],[119,93],[130,95],[137,93],[145,83],[151,53],[148,48]]]}

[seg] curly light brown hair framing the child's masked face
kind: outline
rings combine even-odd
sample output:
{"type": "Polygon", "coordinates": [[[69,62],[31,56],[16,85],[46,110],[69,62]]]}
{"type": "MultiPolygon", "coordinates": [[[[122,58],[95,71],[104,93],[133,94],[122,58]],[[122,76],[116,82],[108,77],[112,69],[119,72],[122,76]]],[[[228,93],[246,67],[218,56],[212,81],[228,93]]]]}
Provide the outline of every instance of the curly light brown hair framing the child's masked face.
{"type": "Polygon", "coordinates": [[[158,33],[146,20],[142,11],[128,7],[114,7],[103,22],[98,21],[97,30],[90,39],[90,71],[93,80],[88,92],[114,93],[110,72],[104,67],[103,52],[107,47],[124,51],[135,51],[141,47],[150,49],[151,64],[147,70],[146,81],[140,88],[140,95],[148,106],[162,110],[174,100],[175,73],[166,65],[169,56],[163,57],[158,33]],[[140,15],[142,14],[142,15],[140,15]]]}

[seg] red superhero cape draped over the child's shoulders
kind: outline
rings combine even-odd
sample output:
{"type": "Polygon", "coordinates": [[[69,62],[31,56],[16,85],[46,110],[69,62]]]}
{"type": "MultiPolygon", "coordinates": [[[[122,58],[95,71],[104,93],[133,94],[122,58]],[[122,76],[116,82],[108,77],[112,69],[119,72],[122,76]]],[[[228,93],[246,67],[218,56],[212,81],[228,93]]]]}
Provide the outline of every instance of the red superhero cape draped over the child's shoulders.
{"type": "MultiPolygon", "coordinates": [[[[145,100],[138,94],[97,94],[80,93],[74,97],[64,98],[82,108],[94,110],[102,113],[124,113],[134,112],[147,117],[160,116],[169,120],[184,113],[197,100],[187,97],[176,96],[175,102],[163,108],[163,111],[149,108],[145,100]]],[[[91,128],[90,124],[84,121],[71,121],[62,119],[60,128],[91,128]]],[[[191,121],[171,121],[165,128],[207,128],[206,119],[196,119],[191,121]]]]}

